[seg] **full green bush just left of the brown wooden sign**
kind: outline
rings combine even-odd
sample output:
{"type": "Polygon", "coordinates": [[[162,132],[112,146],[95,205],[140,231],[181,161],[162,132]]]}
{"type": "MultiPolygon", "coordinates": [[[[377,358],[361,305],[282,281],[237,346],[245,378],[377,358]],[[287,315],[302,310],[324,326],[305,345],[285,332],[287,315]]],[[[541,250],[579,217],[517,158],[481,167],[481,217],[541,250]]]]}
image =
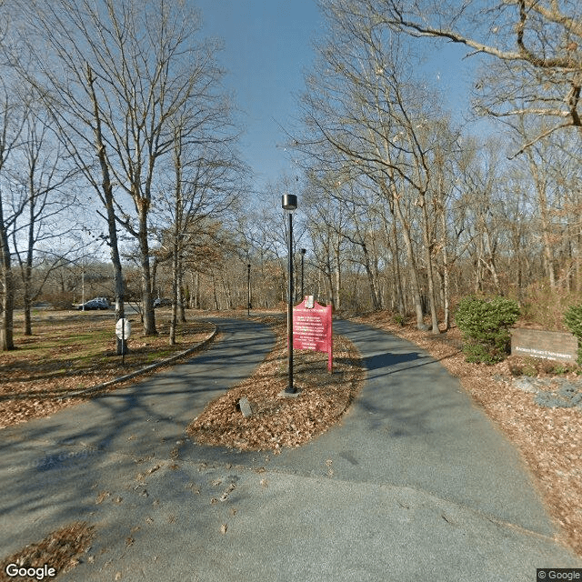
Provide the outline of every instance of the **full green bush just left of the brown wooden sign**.
{"type": "Polygon", "coordinates": [[[465,297],[458,308],[455,322],[463,335],[463,352],[467,362],[500,362],[508,353],[509,327],[519,316],[519,307],[511,299],[465,297]]]}

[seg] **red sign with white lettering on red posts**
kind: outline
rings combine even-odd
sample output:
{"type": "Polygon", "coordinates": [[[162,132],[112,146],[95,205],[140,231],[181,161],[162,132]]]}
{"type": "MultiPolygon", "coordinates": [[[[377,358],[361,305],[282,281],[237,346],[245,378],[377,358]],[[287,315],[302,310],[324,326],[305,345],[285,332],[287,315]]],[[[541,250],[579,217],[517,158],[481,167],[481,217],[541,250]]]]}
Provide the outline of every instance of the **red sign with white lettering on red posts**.
{"type": "Polygon", "coordinates": [[[327,370],[332,368],[331,306],[320,306],[313,297],[306,297],[293,308],[293,347],[326,352],[327,370]]]}

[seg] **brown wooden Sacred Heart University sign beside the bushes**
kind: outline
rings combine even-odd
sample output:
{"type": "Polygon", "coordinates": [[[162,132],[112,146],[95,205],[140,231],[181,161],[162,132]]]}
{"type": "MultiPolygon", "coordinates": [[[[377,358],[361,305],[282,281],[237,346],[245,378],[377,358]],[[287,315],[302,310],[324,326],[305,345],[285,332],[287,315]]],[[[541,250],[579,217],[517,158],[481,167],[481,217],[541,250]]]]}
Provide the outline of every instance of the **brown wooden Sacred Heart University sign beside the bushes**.
{"type": "Polygon", "coordinates": [[[541,357],[574,364],[577,347],[577,338],[572,334],[523,327],[511,330],[512,356],[541,357]]]}

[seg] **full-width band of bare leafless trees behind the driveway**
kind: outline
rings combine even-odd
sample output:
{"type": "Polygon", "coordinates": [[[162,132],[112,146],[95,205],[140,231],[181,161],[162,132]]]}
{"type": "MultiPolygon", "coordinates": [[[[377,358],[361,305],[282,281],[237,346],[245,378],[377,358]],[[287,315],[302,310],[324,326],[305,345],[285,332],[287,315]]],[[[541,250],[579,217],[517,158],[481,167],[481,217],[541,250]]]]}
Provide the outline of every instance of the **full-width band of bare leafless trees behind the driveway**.
{"type": "Polygon", "coordinates": [[[16,287],[26,297],[44,277],[63,280],[89,230],[111,256],[116,317],[131,289],[145,334],[156,332],[155,296],[172,299],[174,330],[186,307],[246,307],[249,273],[252,306],[282,306],[284,193],[300,205],[297,301],[303,279],[337,309],[412,315],[438,333],[469,294],[579,300],[581,7],[319,4],[326,34],[288,128],[296,176],[245,209],[236,201],[251,176],[196,12],[15,2],[1,38],[3,349],[14,346],[16,287]],[[424,72],[426,43],[447,42],[480,64],[473,111],[496,122],[487,135],[471,135],[424,72]],[[75,231],[80,207],[98,219],[75,231]],[[51,236],[67,237],[65,251],[51,255],[51,236]]]}

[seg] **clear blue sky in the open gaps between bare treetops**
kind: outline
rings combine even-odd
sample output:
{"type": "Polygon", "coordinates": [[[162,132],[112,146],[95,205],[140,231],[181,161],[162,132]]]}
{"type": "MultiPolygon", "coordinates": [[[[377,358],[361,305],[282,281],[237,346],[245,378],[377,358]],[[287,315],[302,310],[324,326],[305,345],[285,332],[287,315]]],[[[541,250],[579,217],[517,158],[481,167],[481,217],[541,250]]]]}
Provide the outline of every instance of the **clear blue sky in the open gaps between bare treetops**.
{"type": "MultiPolygon", "coordinates": [[[[289,127],[298,117],[296,98],[304,89],[304,72],[314,60],[313,44],[325,34],[316,0],[193,0],[202,11],[204,36],[224,40],[220,55],[226,86],[243,111],[246,134],[240,150],[256,174],[255,187],[265,188],[296,169],[284,149],[289,127]]],[[[461,61],[453,45],[423,44],[426,71],[450,99],[466,109],[471,63],[461,61]]]]}

